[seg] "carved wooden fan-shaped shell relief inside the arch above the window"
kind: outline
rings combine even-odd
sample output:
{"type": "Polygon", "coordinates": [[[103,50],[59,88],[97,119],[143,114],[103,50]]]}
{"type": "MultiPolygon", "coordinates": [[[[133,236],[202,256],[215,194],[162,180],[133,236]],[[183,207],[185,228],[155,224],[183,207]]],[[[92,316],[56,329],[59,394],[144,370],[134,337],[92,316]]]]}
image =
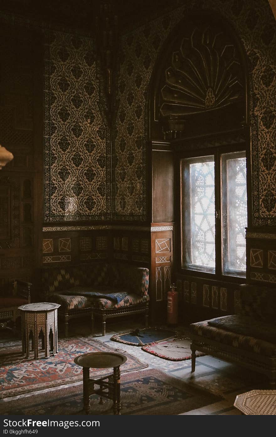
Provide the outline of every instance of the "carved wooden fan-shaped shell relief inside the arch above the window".
{"type": "Polygon", "coordinates": [[[242,69],[235,45],[223,31],[194,28],[173,52],[160,90],[163,117],[213,110],[241,100],[242,69]]]}

